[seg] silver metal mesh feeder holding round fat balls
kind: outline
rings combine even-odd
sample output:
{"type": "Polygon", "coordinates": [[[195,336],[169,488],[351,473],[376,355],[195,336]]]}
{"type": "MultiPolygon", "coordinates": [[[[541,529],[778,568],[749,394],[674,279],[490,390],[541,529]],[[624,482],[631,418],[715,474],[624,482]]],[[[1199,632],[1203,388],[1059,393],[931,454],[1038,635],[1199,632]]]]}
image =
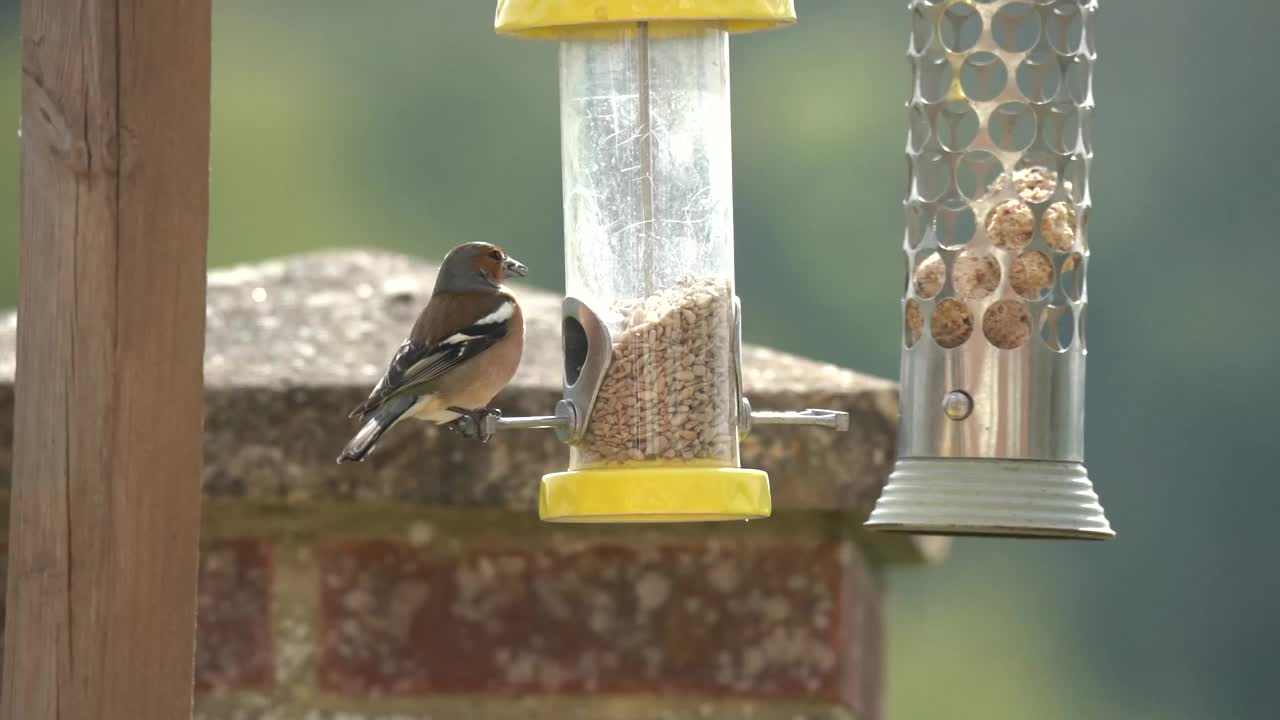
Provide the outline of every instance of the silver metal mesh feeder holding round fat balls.
{"type": "Polygon", "coordinates": [[[1084,468],[1097,3],[910,10],[902,420],[868,525],[1110,538],[1084,468]]]}

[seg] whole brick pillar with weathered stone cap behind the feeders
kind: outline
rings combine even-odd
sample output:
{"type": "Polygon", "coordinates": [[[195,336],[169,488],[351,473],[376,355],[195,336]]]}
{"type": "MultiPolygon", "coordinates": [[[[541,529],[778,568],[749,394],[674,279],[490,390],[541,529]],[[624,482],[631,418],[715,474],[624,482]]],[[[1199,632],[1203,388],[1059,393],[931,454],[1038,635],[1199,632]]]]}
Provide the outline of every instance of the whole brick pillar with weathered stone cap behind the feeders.
{"type": "MultiPolygon", "coordinates": [[[[884,716],[886,569],[946,550],[861,530],[892,465],[892,383],[748,346],[758,407],[850,413],[849,433],[746,438],[773,518],[540,523],[538,480],[568,455],[550,432],[480,446],[402,425],[366,464],[334,464],[434,270],[343,252],[210,275],[196,717],[884,716]]],[[[495,405],[545,414],[559,301],[521,297],[529,348],[495,405]]]]}

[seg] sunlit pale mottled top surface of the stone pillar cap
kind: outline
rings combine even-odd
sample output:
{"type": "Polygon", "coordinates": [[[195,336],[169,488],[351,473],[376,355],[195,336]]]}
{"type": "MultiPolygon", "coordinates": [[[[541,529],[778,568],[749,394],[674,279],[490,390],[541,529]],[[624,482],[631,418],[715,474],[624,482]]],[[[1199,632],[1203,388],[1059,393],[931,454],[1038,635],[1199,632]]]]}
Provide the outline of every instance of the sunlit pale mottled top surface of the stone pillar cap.
{"type": "MultiPolygon", "coordinates": [[[[435,282],[406,255],[330,251],[209,274],[205,375],[214,387],[370,387],[435,282]]],[[[536,269],[535,269],[536,273],[536,269]]],[[[512,283],[529,338],[520,388],[559,389],[559,296],[512,283]]],[[[746,309],[748,320],[750,309],[746,309]]],[[[0,380],[12,382],[13,313],[0,318],[0,380]]],[[[785,392],[892,389],[888,380],[748,346],[746,387],[785,392]]]]}

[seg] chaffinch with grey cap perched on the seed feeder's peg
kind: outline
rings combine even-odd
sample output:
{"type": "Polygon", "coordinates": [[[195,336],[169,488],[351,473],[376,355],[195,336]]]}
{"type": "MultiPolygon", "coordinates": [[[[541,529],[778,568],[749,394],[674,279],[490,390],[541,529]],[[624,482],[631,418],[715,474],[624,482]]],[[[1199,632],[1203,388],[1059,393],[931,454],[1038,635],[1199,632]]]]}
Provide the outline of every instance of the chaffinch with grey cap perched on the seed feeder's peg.
{"type": "Polygon", "coordinates": [[[449,251],[408,338],[369,398],[351,411],[364,425],[338,462],[364,460],[404,418],[453,428],[463,416],[493,413],[485,406],[516,374],[525,346],[525,316],[503,283],[508,273],[527,272],[488,242],[449,251]]]}

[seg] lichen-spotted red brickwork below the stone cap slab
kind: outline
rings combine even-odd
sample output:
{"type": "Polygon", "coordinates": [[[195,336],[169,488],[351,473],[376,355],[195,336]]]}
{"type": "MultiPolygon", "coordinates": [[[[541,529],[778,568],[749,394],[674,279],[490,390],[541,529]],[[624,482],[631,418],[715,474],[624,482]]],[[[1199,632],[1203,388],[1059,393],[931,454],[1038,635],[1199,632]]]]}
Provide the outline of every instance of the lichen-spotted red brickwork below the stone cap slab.
{"type": "Polygon", "coordinates": [[[836,516],[211,505],[197,719],[879,717],[881,587],[836,516]]]}

